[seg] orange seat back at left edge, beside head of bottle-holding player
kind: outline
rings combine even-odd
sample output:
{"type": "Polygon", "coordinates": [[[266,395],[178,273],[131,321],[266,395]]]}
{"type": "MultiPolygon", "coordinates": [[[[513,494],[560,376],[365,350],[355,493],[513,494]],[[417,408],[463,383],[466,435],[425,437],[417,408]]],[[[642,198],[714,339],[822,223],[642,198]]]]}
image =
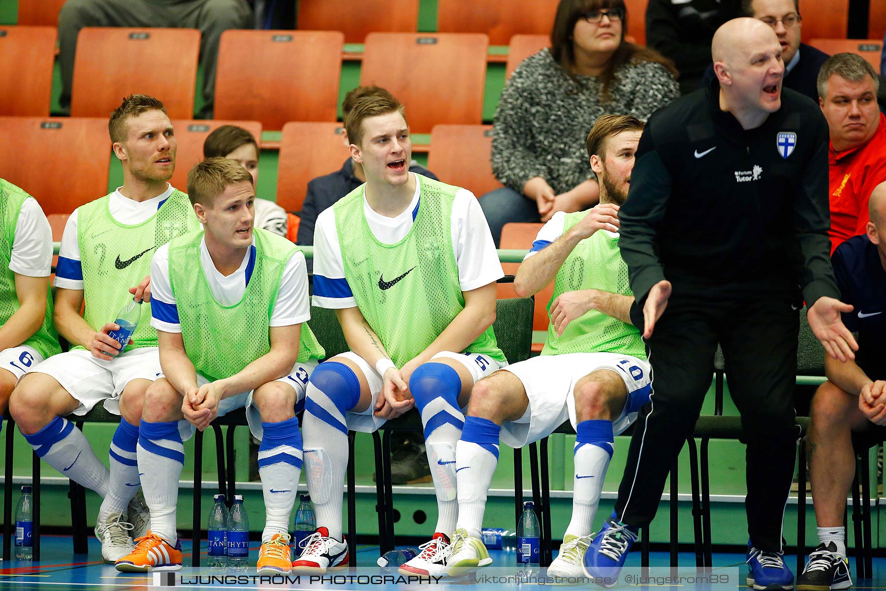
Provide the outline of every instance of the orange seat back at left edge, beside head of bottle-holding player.
{"type": "Polygon", "coordinates": [[[107,194],[111,139],[107,119],[0,117],[3,177],[49,214],[70,214],[107,194]]]}

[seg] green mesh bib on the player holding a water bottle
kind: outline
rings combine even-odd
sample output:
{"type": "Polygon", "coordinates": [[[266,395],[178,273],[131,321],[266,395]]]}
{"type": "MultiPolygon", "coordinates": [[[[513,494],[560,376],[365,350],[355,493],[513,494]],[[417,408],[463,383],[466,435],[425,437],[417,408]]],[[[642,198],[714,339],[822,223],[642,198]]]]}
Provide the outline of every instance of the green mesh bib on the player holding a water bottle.
{"type": "MultiPolygon", "coordinates": [[[[132,295],[130,287],[151,274],[151,258],[159,246],[200,227],[188,196],[172,195],[150,218],[127,225],[113,219],[108,209],[110,195],[77,209],[77,242],[83,269],[86,309],[83,318],[94,330],[113,323],[114,316],[132,295]]],[[[141,306],[133,345],[157,346],[157,330],[151,326],[151,304],[141,306]]],[[[81,347],[82,348],[82,347],[81,347]]]]}

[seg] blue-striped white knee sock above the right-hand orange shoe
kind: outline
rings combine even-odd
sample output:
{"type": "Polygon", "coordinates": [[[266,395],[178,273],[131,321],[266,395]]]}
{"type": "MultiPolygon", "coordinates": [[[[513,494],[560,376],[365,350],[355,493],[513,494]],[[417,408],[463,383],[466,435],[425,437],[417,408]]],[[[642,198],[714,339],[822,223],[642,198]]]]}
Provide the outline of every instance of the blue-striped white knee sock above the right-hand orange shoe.
{"type": "Polygon", "coordinates": [[[299,419],[261,424],[264,435],[259,446],[259,476],[265,498],[265,528],[261,542],[275,533],[289,533],[289,517],[301,475],[301,432],[299,419]]]}

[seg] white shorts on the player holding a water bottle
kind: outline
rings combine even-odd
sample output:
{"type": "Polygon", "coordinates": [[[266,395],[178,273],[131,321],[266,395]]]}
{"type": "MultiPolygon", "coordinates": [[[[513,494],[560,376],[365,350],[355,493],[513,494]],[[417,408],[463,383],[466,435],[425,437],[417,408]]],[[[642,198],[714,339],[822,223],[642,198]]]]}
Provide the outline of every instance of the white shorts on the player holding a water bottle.
{"type": "Polygon", "coordinates": [[[105,409],[120,415],[120,393],[134,379],[154,381],[160,372],[160,355],[156,346],[143,346],[118,355],[110,362],[93,357],[85,349],[52,355],[32,371],[54,377],[67,393],[80,402],[74,415],[82,416],[98,402],[105,409]]]}

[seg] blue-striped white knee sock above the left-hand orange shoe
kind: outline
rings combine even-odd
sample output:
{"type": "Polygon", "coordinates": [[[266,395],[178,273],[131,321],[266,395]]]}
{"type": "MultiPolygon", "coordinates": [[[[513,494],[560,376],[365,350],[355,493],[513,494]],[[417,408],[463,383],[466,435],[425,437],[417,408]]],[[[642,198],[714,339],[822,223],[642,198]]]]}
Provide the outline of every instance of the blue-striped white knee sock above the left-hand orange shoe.
{"type": "Polygon", "coordinates": [[[151,475],[142,483],[144,502],[151,509],[151,532],[175,546],[175,505],[178,479],[184,466],[184,444],[178,421],[139,426],[138,471],[151,475]]]}

